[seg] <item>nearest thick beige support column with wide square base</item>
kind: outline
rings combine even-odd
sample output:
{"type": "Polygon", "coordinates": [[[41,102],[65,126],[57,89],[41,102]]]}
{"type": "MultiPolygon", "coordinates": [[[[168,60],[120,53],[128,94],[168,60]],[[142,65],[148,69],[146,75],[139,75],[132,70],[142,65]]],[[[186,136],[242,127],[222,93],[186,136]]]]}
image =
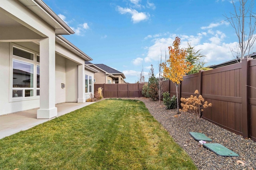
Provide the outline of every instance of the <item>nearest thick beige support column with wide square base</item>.
{"type": "Polygon", "coordinates": [[[55,107],[55,35],[40,39],[40,109],[37,119],[57,116],[55,107]]]}

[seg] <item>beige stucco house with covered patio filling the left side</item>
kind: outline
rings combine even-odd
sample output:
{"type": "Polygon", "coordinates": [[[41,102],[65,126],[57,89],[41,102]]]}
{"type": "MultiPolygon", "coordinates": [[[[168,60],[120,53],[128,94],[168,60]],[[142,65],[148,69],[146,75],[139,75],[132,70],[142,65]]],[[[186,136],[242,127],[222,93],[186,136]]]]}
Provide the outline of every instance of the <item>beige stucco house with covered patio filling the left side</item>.
{"type": "Polygon", "coordinates": [[[0,0],[0,115],[38,107],[37,118],[49,119],[55,104],[86,101],[86,75],[97,70],[61,36],[70,34],[42,0],[0,0]]]}

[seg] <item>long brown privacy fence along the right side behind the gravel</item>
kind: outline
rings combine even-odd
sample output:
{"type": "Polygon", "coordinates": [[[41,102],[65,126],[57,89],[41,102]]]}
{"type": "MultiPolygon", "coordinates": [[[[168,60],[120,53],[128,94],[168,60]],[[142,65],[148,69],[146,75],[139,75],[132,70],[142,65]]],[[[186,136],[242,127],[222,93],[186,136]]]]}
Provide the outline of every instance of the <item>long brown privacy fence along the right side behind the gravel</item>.
{"type": "MultiPolygon", "coordinates": [[[[236,63],[183,77],[178,86],[180,98],[188,98],[198,90],[212,103],[203,111],[203,118],[220,127],[256,141],[256,59],[236,63]],[[248,85],[248,86],[246,86],[248,85]]],[[[176,95],[175,85],[166,80],[165,91],[176,95]]]]}

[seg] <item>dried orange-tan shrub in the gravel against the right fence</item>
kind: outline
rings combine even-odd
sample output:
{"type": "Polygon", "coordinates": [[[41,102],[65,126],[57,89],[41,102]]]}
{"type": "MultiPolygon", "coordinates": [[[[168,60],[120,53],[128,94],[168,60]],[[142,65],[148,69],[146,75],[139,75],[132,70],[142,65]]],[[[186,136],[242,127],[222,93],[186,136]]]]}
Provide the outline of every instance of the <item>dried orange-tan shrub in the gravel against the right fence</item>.
{"type": "Polygon", "coordinates": [[[191,95],[190,98],[180,98],[180,101],[183,102],[180,105],[182,106],[182,109],[180,111],[184,111],[186,113],[191,113],[194,117],[195,123],[197,123],[201,117],[202,117],[202,111],[206,109],[207,107],[211,107],[212,104],[207,101],[204,102],[204,98],[202,95],[198,95],[198,90],[194,92],[196,96],[191,95]]]}

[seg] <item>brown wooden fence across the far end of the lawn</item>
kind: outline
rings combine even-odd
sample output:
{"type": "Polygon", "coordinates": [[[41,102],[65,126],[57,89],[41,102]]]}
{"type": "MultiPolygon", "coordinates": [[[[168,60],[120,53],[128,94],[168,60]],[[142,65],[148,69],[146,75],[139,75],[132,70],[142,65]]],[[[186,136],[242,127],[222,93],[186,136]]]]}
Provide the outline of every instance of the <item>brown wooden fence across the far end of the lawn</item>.
{"type": "Polygon", "coordinates": [[[104,98],[140,98],[144,84],[94,84],[94,91],[103,88],[104,98]]]}

